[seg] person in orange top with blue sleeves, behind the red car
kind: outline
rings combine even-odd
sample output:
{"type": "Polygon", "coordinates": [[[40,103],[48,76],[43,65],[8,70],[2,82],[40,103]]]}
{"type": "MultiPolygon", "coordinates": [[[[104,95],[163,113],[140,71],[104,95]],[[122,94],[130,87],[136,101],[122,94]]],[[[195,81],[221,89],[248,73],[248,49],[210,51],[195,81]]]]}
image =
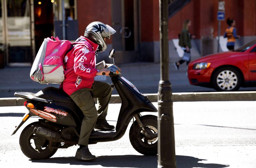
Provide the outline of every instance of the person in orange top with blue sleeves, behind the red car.
{"type": "Polygon", "coordinates": [[[235,20],[228,18],[227,19],[228,28],[225,31],[224,38],[228,38],[227,48],[229,51],[234,51],[234,46],[236,39],[239,39],[240,36],[236,35],[236,25],[235,20]]]}

